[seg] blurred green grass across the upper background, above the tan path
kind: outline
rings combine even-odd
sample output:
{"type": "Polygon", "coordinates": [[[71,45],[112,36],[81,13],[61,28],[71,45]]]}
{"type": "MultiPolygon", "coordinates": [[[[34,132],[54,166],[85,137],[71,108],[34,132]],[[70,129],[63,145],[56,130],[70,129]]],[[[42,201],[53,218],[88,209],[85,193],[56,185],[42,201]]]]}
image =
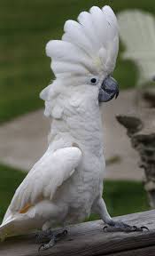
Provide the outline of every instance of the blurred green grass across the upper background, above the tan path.
{"type": "MultiPolygon", "coordinates": [[[[76,19],[92,5],[104,4],[110,4],[115,12],[141,8],[155,13],[154,0],[1,0],[0,123],[43,107],[39,92],[52,78],[45,44],[60,38],[65,20],[76,19]]],[[[132,87],[136,67],[119,58],[114,76],[121,88],[132,87]]]]}

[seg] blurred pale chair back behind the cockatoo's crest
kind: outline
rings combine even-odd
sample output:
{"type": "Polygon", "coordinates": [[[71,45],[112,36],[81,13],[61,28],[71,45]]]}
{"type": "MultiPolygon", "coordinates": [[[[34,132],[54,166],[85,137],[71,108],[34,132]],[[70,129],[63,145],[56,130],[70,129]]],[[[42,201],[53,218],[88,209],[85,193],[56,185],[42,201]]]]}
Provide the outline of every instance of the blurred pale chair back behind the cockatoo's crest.
{"type": "Polygon", "coordinates": [[[124,11],[118,15],[120,38],[125,44],[124,60],[134,60],[139,69],[137,85],[155,76],[155,19],[149,12],[124,11]]]}

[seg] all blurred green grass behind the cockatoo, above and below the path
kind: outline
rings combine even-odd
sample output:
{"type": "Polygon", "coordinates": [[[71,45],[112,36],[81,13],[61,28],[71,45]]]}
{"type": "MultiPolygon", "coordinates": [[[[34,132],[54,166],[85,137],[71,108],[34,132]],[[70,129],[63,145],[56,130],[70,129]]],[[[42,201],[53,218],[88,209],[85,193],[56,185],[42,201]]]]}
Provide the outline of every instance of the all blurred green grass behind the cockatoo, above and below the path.
{"type": "MultiPolygon", "coordinates": [[[[76,19],[79,12],[89,10],[92,5],[105,4],[111,5],[114,12],[138,8],[155,13],[154,0],[0,1],[0,124],[43,108],[39,92],[53,77],[50,59],[45,56],[45,44],[62,36],[66,20],[76,19]]],[[[136,66],[119,57],[113,76],[122,89],[133,87],[137,78],[136,66]]],[[[1,220],[15,188],[24,177],[25,173],[19,170],[0,166],[1,220]]],[[[112,216],[149,209],[141,182],[106,181],[105,201],[112,216]]]]}

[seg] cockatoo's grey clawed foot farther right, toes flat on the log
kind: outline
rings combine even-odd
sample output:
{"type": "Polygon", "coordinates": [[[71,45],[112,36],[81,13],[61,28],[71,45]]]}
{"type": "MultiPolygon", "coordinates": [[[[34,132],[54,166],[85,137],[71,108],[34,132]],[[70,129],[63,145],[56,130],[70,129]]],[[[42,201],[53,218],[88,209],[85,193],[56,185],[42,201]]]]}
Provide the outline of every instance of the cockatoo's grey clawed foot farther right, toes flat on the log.
{"type": "Polygon", "coordinates": [[[121,221],[111,221],[108,223],[107,226],[104,228],[105,232],[143,232],[143,230],[148,230],[149,228],[142,226],[142,227],[136,227],[136,226],[130,226],[124,222],[121,221]]]}

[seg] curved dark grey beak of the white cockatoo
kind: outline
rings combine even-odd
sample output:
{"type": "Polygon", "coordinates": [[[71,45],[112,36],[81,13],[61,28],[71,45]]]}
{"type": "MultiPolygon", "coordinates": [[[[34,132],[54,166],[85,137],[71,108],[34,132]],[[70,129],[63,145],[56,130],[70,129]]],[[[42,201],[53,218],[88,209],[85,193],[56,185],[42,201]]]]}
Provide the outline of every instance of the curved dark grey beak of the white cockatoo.
{"type": "Polygon", "coordinates": [[[119,96],[119,85],[112,76],[107,76],[99,89],[98,100],[106,102],[112,100],[114,96],[115,99],[119,96]]]}

